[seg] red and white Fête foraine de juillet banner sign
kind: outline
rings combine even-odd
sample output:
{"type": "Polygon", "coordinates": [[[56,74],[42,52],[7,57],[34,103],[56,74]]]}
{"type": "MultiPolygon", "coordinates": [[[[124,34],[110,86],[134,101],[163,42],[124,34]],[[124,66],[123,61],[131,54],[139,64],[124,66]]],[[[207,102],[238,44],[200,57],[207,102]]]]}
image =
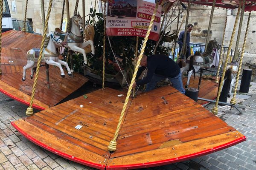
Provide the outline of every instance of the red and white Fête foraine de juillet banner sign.
{"type": "MultiPolygon", "coordinates": [[[[145,37],[155,4],[143,0],[109,0],[106,31],[109,36],[145,37]]],[[[149,39],[157,41],[160,33],[161,7],[158,6],[149,39]]]]}

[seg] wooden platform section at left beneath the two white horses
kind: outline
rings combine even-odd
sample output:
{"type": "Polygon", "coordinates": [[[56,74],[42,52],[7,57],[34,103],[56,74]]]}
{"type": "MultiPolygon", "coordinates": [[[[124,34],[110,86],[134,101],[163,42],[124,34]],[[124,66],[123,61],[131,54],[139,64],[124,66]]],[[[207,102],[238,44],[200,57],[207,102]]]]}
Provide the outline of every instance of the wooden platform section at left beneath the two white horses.
{"type": "MultiPolygon", "coordinates": [[[[40,48],[41,35],[22,31],[7,31],[2,36],[2,53],[0,75],[0,92],[29,105],[34,79],[30,79],[30,69],[26,81],[22,82],[23,66],[26,65],[26,53],[31,48],[40,48]]],[[[44,110],[52,107],[80,88],[87,78],[74,74],[74,78],[66,75],[61,78],[58,68],[49,68],[50,89],[47,88],[45,68],[41,67],[36,86],[33,108],[44,110]]]]}

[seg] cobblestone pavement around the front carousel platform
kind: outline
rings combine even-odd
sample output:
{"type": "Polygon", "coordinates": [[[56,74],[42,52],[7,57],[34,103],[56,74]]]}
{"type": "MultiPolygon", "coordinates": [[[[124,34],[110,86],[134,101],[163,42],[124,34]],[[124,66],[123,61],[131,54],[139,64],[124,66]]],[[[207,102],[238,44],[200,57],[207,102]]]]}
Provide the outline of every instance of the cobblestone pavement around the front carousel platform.
{"type": "MultiPolygon", "coordinates": [[[[256,170],[256,83],[251,83],[248,94],[237,94],[237,103],[246,107],[242,115],[222,106],[217,116],[243,133],[247,141],[206,156],[146,169],[256,170]]],[[[0,93],[0,170],[93,170],[38,147],[17,132],[10,122],[26,117],[26,108],[0,93]]]]}

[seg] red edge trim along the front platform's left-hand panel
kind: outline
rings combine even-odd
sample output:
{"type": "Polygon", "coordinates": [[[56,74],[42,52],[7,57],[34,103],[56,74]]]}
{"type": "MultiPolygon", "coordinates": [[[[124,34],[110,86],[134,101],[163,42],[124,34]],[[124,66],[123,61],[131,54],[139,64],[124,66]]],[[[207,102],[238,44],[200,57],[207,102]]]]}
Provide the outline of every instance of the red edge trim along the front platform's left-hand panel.
{"type": "Polygon", "coordinates": [[[79,159],[79,158],[76,158],[74,156],[70,156],[68,155],[67,153],[63,153],[61,151],[58,151],[58,150],[55,150],[54,148],[52,147],[49,147],[48,145],[38,141],[37,139],[33,138],[32,136],[29,136],[29,134],[27,134],[26,132],[24,132],[22,129],[20,129],[16,124],[15,122],[11,122],[12,126],[15,127],[15,129],[17,129],[23,136],[25,136],[27,139],[29,139],[31,142],[37,144],[38,146],[40,147],[43,147],[44,149],[46,150],[49,150],[50,152],[56,154],[56,155],[59,155],[65,159],[69,159],[70,161],[74,161],[74,162],[77,162],[79,164],[84,164],[84,165],[87,165],[87,166],[90,166],[90,167],[94,167],[94,168],[97,168],[99,170],[105,170],[105,165],[101,165],[101,164],[96,164],[96,163],[93,163],[93,162],[89,162],[89,161],[85,161],[83,159],[79,159]]]}

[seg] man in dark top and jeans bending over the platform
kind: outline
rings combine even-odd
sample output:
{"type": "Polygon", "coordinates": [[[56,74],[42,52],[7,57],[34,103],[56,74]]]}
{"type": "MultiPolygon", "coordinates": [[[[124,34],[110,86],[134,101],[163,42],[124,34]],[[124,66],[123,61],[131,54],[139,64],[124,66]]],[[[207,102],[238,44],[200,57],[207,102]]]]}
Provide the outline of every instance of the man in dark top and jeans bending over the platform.
{"type": "Polygon", "coordinates": [[[133,88],[135,88],[136,85],[144,85],[147,83],[145,91],[151,91],[155,88],[157,82],[168,78],[180,93],[185,94],[180,67],[168,56],[157,54],[147,57],[143,54],[140,65],[142,67],[139,68],[136,79],[147,67],[148,73],[142,80],[134,82],[133,88]]]}

